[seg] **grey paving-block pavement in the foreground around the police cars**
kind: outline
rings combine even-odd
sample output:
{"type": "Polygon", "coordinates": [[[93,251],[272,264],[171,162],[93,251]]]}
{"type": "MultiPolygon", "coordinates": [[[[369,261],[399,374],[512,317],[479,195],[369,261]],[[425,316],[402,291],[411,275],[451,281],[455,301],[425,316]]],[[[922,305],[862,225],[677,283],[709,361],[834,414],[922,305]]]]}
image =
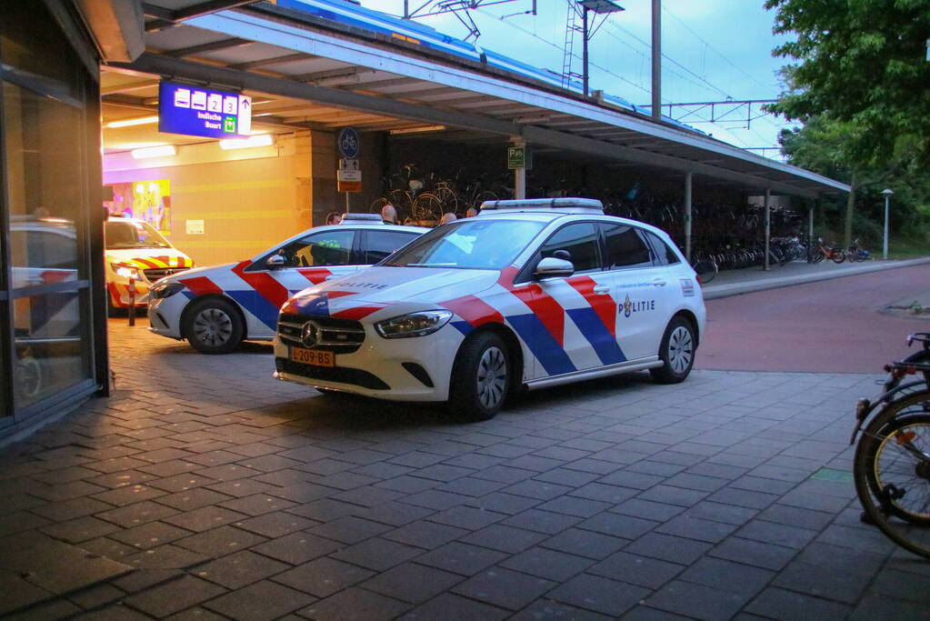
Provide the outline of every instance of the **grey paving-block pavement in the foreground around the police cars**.
{"type": "MultiPolygon", "coordinates": [[[[144,324],[144,322],[143,322],[144,324]]],[[[927,618],[862,526],[861,375],[698,371],[463,423],[111,322],[113,397],[0,449],[0,615],[927,618]]]]}

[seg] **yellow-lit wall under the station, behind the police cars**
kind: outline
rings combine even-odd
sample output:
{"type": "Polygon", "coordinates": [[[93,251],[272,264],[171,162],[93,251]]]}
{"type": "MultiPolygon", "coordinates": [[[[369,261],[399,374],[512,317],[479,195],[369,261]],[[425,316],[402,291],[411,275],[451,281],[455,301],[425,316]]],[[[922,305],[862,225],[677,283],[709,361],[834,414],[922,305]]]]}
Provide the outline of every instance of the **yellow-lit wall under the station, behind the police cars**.
{"type": "Polygon", "coordinates": [[[169,179],[169,240],[196,265],[216,265],[254,257],[312,226],[312,151],[310,132],[299,132],[238,151],[205,142],[153,160],[113,153],[104,156],[103,180],[169,179]],[[204,220],[204,234],[187,234],[187,220],[204,220]]]}

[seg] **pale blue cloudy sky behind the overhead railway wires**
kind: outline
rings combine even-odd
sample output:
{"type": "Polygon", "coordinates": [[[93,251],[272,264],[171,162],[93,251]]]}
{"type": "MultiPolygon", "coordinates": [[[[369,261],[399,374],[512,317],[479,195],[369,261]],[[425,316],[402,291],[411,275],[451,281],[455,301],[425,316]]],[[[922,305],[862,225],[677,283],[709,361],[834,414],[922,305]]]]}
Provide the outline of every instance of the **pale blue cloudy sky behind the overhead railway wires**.
{"type": "MultiPolygon", "coordinates": [[[[411,9],[426,0],[409,0],[411,9]]],[[[566,0],[537,0],[537,15],[525,14],[532,0],[486,4],[471,11],[481,30],[477,43],[540,68],[562,72],[566,0]]],[[[772,49],[786,39],[772,33],[775,15],[764,0],[662,0],[662,102],[686,103],[731,99],[776,99],[781,92],[777,71],[787,59],[772,49]]],[[[403,0],[361,0],[365,7],[401,15],[403,0]]],[[[603,89],[637,105],[651,103],[651,0],[618,0],[625,10],[610,15],[593,34],[590,46],[591,89],[603,89]]],[[[464,38],[468,31],[451,14],[418,20],[436,30],[464,38]]],[[[578,20],[580,23],[580,20],[578,20]]],[[[573,71],[581,72],[581,39],[573,46],[573,71]]],[[[716,139],[738,147],[777,147],[778,131],[794,124],[764,115],[747,128],[746,108],[731,111],[725,122],[710,121],[709,109],[681,120],[716,139]],[[741,120],[737,120],[741,119],[741,120]]],[[[668,113],[668,108],[663,109],[668,113]]],[[[674,118],[683,109],[673,109],[674,118]]],[[[758,105],[751,116],[762,114],[758,105]]],[[[759,152],[778,157],[777,152],[759,152]]]]}

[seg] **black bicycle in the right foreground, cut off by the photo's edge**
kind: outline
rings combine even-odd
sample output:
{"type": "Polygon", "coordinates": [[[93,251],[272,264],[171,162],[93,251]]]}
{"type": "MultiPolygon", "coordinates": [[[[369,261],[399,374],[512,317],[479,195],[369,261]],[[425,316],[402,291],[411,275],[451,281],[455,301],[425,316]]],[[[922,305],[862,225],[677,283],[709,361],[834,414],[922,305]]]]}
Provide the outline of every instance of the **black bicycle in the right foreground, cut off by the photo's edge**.
{"type": "Polygon", "coordinates": [[[930,333],[908,337],[923,343],[907,359],[886,365],[883,394],[857,403],[853,461],[862,522],[878,527],[897,545],[930,559],[930,333]],[[907,375],[922,380],[901,384],[907,375]],[[882,410],[863,429],[878,404],[882,410]]]}

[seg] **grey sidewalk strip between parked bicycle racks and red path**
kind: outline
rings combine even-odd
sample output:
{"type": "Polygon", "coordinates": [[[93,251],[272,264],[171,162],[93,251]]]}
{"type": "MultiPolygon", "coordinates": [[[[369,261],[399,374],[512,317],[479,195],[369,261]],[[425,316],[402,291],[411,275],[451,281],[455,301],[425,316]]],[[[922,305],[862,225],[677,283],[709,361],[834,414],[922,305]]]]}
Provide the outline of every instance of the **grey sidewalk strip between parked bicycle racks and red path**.
{"type": "Polygon", "coordinates": [[[706,284],[704,299],[715,297],[738,296],[753,291],[777,289],[778,287],[793,284],[816,283],[831,278],[843,278],[870,271],[896,270],[911,265],[930,263],[930,257],[911,258],[907,260],[870,260],[863,263],[840,263],[821,261],[817,264],[795,261],[783,267],[773,266],[771,271],[761,268],[747,268],[745,270],[721,271],[711,284],[706,284]]]}

